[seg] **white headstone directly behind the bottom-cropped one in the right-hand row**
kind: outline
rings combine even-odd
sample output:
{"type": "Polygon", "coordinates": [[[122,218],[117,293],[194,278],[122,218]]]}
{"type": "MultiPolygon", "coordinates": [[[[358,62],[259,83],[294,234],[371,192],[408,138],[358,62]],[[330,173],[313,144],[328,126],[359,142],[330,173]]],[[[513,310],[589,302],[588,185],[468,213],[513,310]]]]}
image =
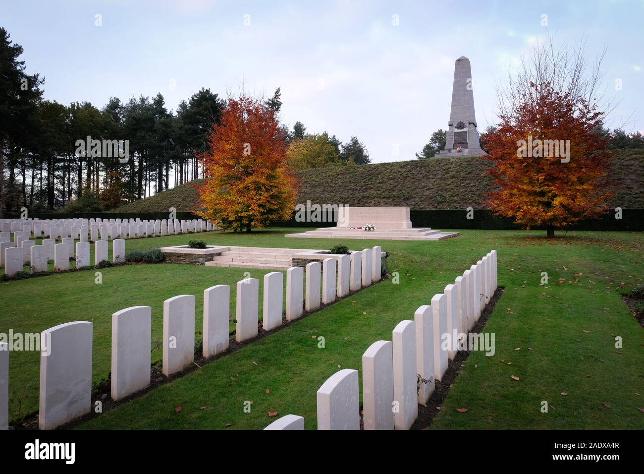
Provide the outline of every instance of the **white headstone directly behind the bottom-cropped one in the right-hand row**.
{"type": "Polygon", "coordinates": [[[360,429],[357,370],[339,370],[317,390],[317,429],[360,429]]]}

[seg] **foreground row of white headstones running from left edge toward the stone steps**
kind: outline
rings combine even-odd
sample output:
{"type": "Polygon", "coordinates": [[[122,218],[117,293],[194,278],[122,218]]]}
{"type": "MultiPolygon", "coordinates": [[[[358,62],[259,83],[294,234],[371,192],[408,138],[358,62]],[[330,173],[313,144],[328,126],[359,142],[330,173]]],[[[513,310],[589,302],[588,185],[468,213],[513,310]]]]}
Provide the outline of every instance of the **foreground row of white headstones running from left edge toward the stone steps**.
{"type": "MultiPolygon", "coordinates": [[[[55,247],[60,245],[66,248],[64,244],[55,247]]],[[[304,269],[299,266],[289,268],[285,311],[287,321],[301,317],[303,306],[307,311],[315,311],[320,307],[320,302],[328,304],[336,300],[336,295],[344,297],[350,290],[357,291],[379,281],[381,258],[372,259],[373,254],[383,255],[377,246],[339,256],[340,269],[337,273],[334,258],[325,259],[322,265],[320,262],[307,264],[304,305],[304,269]],[[357,286],[350,284],[351,276],[355,277],[357,286]]],[[[267,273],[263,283],[262,328],[270,331],[283,324],[283,273],[267,273]]],[[[229,285],[215,285],[204,290],[202,354],[206,358],[228,348],[230,293],[229,285]]],[[[258,335],[258,300],[258,279],[247,278],[237,282],[237,342],[258,335]]],[[[194,295],[178,295],[164,301],[162,372],[167,377],[194,362],[194,311],[194,295]]],[[[76,321],[41,333],[41,341],[47,341],[48,349],[48,354],[41,353],[38,419],[41,430],[56,428],[90,411],[92,327],[91,322],[76,321]]],[[[133,306],[113,313],[112,399],[123,399],[150,385],[151,328],[152,308],[149,306],[133,306]]],[[[3,426],[5,429],[8,426],[8,351],[0,351],[0,429],[3,426]]]]}

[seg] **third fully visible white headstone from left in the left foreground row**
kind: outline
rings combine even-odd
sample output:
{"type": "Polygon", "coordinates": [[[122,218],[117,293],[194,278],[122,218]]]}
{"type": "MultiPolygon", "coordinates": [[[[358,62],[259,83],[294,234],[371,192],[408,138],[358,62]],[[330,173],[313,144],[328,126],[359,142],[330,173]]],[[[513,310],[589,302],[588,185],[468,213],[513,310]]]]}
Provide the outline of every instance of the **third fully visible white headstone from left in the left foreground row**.
{"type": "Polygon", "coordinates": [[[163,302],[162,371],[169,377],[193,362],[194,295],[179,295],[163,302]]]}

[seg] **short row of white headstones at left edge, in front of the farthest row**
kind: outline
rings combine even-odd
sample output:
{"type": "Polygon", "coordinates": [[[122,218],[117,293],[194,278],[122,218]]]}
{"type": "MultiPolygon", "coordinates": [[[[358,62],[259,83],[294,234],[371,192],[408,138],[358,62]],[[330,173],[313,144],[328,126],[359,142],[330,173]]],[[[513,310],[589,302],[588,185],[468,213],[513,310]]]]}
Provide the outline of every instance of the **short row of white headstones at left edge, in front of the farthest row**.
{"type": "MultiPolygon", "coordinates": [[[[20,237],[19,237],[20,239],[20,237]]],[[[55,239],[43,239],[40,245],[34,241],[21,240],[19,242],[0,242],[0,266],[5,267],[5,273],[13,277],[17,272],[23,271],[23,266],[28,264],[32,273],[46,272],[48,263],[53,260],[55,271],[69,270],[70,257],[75,257],[76,268],[90,266],[90,242],[76,242],[71,237],[64,237],[62,243],[57,244],[55,239]],[[14,243],[19,243],[15,247],[14,243]]],[[[94,264],[108,260],[108,241],[94,242],[94,264]]],[[[125,261],[125,240],[112,241],[112,262],[125,261]]]]}

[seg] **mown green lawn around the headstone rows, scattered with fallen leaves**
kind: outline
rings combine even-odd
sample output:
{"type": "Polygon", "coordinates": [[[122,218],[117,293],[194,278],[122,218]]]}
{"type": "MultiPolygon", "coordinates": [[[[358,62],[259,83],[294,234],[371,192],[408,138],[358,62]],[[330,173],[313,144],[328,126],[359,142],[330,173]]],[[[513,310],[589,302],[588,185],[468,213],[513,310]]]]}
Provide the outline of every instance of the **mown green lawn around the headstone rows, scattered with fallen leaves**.
{"type": "MultiPolygon", "coordinates": [[[[472,353],[431,427],[644,428],[644,413],[638,411],[644,402],[636,395],[644,388],[644,332],[620,297],[642,282],[641,233],[570,232],[547,241],[544,232],[464,231],[446,241],[413,242],[285,239],[289,232],[295,231],[207,233],[203,239],[292,248],[381,245],[390,252],[388,266],[399,272],[400,283],[366,288],[80,428],[216,429],[232,423],[227,429],[260,429],[272,421],[269,411],[303,415],[306,427],[315,428],[316,391],[327,377],[339,368],[361,370],[361,355],[372,342],[390,340],[397,322],[413,319],[418,306],[429,304],[492,249],[498,251],[498,284],[506,288],[485,328],[495,333],[496,353],[472,353]],[[549,284],[540,285],[541,272],[548,273],[549,284]],[[623,338],[623,348],[615,348],[616,335],[623,338]],[[325,348],[318,348],[312,336],[324,336],[325,348]],[[252,401],[251,413],[243,411],[246,400],[252,401]],[[548,413],[541,412],[543,400],[548,413]]],[[[126,243],[126,250],[184,244],[185,239],[136,239],[126,243]]],[[[152,306],[154,341],[161,336],[164,299],[190,293],[197,297],[199,330],[204,288],[234,285],[244,271],[133,265],[102,270],[101,285],[95,284],[93,271],[6,282],[0,293],[0,332],[93,321],[96,382],[109,371],[111,313],[152,306]]],[[[265,272],[251,273],[261,278],[265,272]]],[[[153,351],[152,359],[160,359],[160,350],[153,351]]],[[[19,405],[23,413],[37,408],[38,360],[37,353],[11,354],[12,415],[19,405]]]]}

